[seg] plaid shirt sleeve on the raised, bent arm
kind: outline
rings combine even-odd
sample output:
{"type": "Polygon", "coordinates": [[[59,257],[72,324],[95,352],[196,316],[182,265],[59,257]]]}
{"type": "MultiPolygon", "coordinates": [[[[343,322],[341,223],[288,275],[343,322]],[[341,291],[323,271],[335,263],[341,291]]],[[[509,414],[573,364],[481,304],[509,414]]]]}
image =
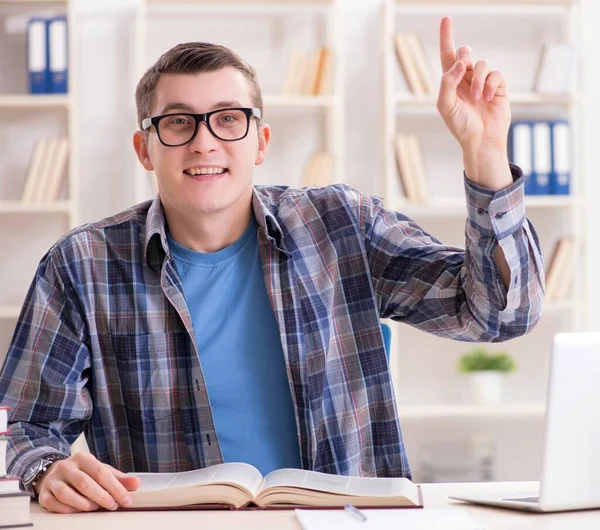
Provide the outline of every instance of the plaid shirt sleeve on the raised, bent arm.
{"type": "Polygon", "coordinates": [[[525,216],[522,172],[511,171],[513,183],[499,191],[464,177],[464,249],[442,244],[379,199],[361,196],[359,224],[382,318],[463,341],[503,341],[535,326],[543,260],[525,216]],[[493,257],[498,246],[510,269],[508,289],[493,257]]]}

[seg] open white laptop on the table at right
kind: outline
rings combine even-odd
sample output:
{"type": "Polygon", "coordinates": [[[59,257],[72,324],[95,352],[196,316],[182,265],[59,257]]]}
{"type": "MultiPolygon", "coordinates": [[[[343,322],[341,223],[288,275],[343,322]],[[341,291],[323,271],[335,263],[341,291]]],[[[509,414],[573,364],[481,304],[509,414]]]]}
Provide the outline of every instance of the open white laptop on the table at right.
{"type": "Polygon", "coordinates": [[[600,333],[552,342],[539,491],[450,499],[533,512],[600,508],[600,333]]]}

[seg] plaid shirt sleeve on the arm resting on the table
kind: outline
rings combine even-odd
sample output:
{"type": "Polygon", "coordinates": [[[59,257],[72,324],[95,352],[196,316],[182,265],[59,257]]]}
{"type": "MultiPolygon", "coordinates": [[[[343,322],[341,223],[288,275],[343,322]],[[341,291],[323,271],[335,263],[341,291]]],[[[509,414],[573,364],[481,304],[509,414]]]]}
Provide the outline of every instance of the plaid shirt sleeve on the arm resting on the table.
{"type": "Polygon", "coordinates": [[[40,456],[69,455],[92,412],[84,321],[54,258],[38,266],[0,371],[0,405],[11,409],[7,467],[17,477],[40,456]]]}

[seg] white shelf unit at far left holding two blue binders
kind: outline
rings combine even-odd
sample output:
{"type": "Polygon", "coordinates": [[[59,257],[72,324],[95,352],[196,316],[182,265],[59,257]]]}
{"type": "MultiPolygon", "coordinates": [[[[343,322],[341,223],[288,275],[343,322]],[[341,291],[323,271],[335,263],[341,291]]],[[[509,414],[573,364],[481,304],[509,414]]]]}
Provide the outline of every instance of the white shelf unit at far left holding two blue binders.
{"type": "Polygon", "coordinates": [[[0,81],[0,239],[11,251],[2,262],[0,284],[0,362],[19,316],[35,268],[48,248],[77,226],[79,171],[75,134],[77,46],[71,0],[0,0],[0,61],[11,75],[0,81]],[[31,16],[66,15],[68,19],[68,93],[29,94],[27,21],[31,16]],[[36,138],[66,135],[69,141],[66,192],[51,203],[20,200],[36,138]]]}

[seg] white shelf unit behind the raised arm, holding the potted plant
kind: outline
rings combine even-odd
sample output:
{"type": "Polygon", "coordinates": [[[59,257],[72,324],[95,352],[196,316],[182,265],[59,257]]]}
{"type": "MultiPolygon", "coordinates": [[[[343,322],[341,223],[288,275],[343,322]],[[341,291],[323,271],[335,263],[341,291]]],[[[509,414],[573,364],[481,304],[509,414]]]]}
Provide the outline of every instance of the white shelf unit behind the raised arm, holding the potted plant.
{"type": "MultiPolygon", "coordinates": [[[[381,192],[388,208],[413,218],[420,226],[444,243],[464,246],[466,202],[462,180],[460,146],[447,130],[436,109],[441,77],[439,64],[439,22],[443,16],[454,21],[456,46],[469,45],[474,60],[489,59],[492,68],[505,75],[513,119],[567,118],[571,123],[573,144],[573,176],[569,196],[527,196],[527,215],[533,222],[546,267],[553,245],[559,237],[571,235],[585,252],[586,232],[583,224],[586,207],[584,178],[581,169],[582,142],[578,142],[582,126],[583,94],[579,87],[566,95],[542,95],[532,92],[534,74],[542,45],[550,42],[573,42],[582,50],[577,27],[579,2],[525,0],[384,0],[382,3],[383,57],[383,129],[384,178],[381,192]],[[415,32],[423,43],[428,66],[433,73],[434,93],[411,93],[401,73],[395,49],[397,31],[415,32]],[[425,204],[407,201],[397,173],[394,138],[398,132],[419,137],[427,174],[430,199],[425,204]]],[[[580,57],[583,53],[580,54],[580,57]]],[[[580,60],[579,68],[583,67],[580,60]]],[[[543,418],[546,398],[547,370],[551,339],[558,331],[585,328],[583,308],[582,255],[578,256],[577,274],[572,296],[567,300],[547,303],[538,326],[528,335],[504,344],[490,344],[492,351],[507,351],[517,360],[517,371],[507,379],[506,399],[514,401],[496,407],[473,404],[465,379],[457,373],[459,356],[473,345],[439,339],[391,322],[392,373],[398,399],[398,410],[405,431],[409,457],[418,454],[422,444],[494,431],[494,425],[481,420],[502,419],[502,429],[512,432],[511,441],[500,442],[499,451],[507,464],[496,477],[506,480],[536,477],[536,459],[524,461],[514,453],[514,439],[526,418],[543,418]],[[423,403],[427,403],[426,405],[423,403]],[[462,419],[461,427],[437,425],[440,419],[462,419]],[[408,425],[406,425],[408,421],[408,425]],[[418,421],[417,421],[418,420],[418,421]],[[465,425],[470,426],[465,428],[465,425]],[[511,431],[511,427],[516,429],[511,431]],[[511,453],[513,451],[513,453],[511,453]],[[510,453],[510,456],[506,456],[510,453]]],[[[541,440],[543,422],[531,422],[537,431],[531,440],[541,440]]],[[[502,433],[495,432],[498,438],[502,433]]],[[[508,436],[508,434],[506,435],[508,436]]],[[[418,459],[417,459],[418,460],[418,459]]],[[[500,458],[502,460],[502,457],[500,458]]],[[[418,474],[418,470],[417,470],[418,474]]],[[[417,476],[418,478],[418,476],[417,476]]]]}

